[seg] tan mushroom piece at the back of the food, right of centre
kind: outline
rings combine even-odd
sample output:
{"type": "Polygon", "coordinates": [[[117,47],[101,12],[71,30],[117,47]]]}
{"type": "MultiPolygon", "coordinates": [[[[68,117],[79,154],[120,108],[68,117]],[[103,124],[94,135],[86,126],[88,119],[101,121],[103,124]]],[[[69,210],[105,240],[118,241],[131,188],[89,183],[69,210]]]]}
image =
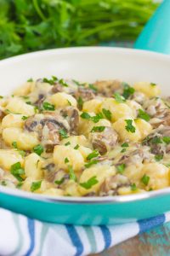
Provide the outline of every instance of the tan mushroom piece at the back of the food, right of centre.
{"type": "Polygon", "coordinates": [[[123,90],[122,82],[118,80],[97,81],[94,86],[100,94],[107,97],[113,96],[116,91],[122,93],[123,90]]]}

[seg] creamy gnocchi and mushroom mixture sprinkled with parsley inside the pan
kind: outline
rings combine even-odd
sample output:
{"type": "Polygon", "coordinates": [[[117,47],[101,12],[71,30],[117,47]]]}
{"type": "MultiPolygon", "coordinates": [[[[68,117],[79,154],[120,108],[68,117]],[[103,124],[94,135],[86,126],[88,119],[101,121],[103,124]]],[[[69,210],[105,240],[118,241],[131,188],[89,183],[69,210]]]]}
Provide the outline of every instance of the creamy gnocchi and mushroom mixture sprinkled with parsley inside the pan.
{"type": "Polygon", "coordinates": [[[42,195],[169,186],[170,99],[157,84],[29,79],[0,99],[0,184],[42,195]]]}

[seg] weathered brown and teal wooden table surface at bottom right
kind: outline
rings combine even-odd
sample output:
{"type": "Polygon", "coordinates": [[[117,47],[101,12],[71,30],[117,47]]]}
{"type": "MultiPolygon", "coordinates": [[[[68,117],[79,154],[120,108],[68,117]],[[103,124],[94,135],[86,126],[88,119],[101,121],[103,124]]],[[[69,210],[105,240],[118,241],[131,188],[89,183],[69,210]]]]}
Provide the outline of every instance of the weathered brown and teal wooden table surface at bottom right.
{"type": "Polygon", "coordinates": [[[170,223],[91,256],[170,256],[170,223]]]}

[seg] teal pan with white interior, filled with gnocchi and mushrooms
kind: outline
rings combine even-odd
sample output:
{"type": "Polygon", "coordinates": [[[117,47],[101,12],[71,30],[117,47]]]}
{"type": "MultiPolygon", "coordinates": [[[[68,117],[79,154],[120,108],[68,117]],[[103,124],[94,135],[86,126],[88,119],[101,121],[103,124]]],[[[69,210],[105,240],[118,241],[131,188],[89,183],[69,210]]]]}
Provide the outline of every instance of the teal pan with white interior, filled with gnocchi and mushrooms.
{"type": "Polygon", "coordinates": [[[92,225],[170,210],[169,67],[105,47],[0,61],[0,207],[92,225]]]}

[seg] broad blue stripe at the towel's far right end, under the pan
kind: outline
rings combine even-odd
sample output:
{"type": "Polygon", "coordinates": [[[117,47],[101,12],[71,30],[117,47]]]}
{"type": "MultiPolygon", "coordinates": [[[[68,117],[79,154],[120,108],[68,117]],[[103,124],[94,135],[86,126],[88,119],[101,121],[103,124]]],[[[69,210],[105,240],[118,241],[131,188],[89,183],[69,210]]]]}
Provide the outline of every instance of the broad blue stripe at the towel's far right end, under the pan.
{"type": "Polygon", "coordinates": [[[139,233],[143,233],[151,228],[161,225],[165,222],[165,215],[161,214],[153,218],[139,220],[139,233]]]}

